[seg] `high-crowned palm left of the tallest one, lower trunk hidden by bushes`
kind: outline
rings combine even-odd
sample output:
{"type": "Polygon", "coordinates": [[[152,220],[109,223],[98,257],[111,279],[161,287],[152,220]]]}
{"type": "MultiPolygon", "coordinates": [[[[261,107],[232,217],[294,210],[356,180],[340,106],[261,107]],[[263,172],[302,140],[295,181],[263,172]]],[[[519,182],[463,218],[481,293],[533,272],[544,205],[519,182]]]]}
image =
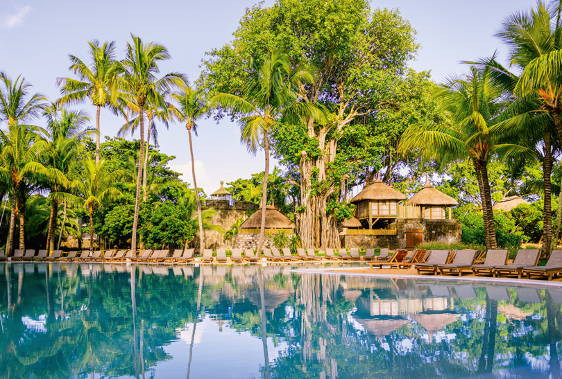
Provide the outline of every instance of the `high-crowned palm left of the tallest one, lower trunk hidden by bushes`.
{"type": "Polygon", "coordinates": [[[115,42],[105,42],[100,46],[97,39],[88,42],[90,46],[91,64],[88,66],[74,55],[69,55],[70,70],[78,76],[78,80],[71,78],[57,78],[58,85],[62,86],[60,104],[80,103],[90,98],[96,107],[96,162],[99,162],[99,114],[102,107],[117,105],[119,96],[118,76],[121,67],[115,60],[115,42]]]}

